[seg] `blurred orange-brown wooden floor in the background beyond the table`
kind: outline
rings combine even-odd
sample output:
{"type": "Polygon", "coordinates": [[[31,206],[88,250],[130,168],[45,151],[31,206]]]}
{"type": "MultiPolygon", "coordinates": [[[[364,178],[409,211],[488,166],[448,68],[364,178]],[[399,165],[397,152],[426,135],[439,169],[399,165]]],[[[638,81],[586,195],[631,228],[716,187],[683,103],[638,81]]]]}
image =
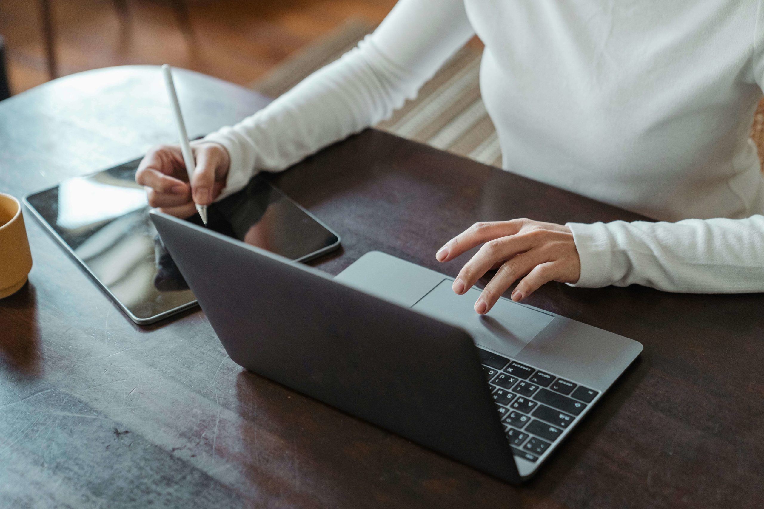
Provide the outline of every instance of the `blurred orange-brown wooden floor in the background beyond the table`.
{"type": "MultiPolygon", "coordinates": [[[[50,0],[60,75],[132,63],[170,63],[246,85],[348,18],[379,22],[395,0],[186,0],[184,37],[166,0],[128,0],[121,20],[110,0],[50,0]]],[[[2,0],[13,93],[48,79],[36,0],[2,0]]]]}

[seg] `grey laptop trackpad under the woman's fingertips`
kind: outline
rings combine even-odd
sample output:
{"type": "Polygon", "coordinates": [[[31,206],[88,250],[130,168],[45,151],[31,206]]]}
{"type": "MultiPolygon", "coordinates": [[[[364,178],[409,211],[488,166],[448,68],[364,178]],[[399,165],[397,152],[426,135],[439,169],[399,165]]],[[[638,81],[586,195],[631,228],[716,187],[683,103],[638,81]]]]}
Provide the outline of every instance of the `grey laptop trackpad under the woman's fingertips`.
{"type": "Polygon", "coordinates": [[[475,312],[474,304],[481,291],[471,288],[465,295],[456,295],[452,285],[452,280],[445,279],[412,309],[462,327],[476,344],[507,356],[513,357],[523,350],[523,346],[554,319],[551,314],[506,298],[500,298],[488,314],[480,315],[475,312]]]}

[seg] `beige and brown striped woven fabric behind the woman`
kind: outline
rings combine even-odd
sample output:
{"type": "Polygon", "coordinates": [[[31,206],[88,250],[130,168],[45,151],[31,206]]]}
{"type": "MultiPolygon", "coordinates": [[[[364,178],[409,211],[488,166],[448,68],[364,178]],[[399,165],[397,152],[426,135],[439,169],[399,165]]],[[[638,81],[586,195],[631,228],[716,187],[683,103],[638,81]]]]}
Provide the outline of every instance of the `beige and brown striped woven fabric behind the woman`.
{"type": "MultiPolygon", "coordinates": [[[[351,50],[374,25],[351,20],[280,63],[251,88],[277,97],[306,76],[351,50]]],[[[481,163],[501,166],[501,148],[481,100],[478,70],[481,51],[465,47],[426,83],[413,101],[376,127],[481,163]]],[[[753,121],[751,137],[764,156],[764,101],[753,121]]]]}

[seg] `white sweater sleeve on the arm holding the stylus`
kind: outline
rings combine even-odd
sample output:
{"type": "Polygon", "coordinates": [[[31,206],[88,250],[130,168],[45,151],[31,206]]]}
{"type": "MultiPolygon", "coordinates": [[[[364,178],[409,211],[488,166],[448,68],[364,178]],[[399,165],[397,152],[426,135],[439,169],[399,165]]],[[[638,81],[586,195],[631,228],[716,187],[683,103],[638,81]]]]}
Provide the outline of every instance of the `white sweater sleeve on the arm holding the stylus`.
{"type": "Polygon", "coordinates": [[[220,198],[390,118],[473,34],[463,0],[401,0],[354,50],[205,138],[231,157],[220,198]]]}

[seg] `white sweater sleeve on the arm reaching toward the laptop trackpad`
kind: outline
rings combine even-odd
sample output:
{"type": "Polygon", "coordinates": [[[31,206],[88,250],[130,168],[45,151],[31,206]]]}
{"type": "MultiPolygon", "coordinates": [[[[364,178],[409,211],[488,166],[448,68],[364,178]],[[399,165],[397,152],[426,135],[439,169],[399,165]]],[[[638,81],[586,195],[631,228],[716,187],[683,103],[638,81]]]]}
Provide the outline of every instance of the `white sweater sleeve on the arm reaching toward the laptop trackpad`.
{"type": "Polygon", "coordinates": [[[573,286],[764,292],[764,216],[567,226],[581,259],[581,277],[573,286]]]}

